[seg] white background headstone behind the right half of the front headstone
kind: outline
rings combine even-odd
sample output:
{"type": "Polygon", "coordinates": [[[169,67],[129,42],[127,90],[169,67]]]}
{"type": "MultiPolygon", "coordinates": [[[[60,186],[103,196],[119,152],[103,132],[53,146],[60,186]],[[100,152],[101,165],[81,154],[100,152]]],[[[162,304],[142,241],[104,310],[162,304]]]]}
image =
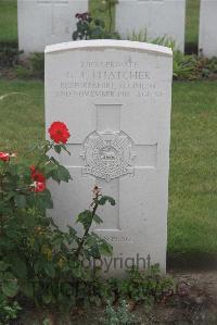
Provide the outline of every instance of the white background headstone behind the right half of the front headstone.
{"type": "Polygon", "coordinates": [[[127,39],[146,30],[149,39],[168,36],[184,49],[186,0],[118,0],[116,30],[127,39]]]}

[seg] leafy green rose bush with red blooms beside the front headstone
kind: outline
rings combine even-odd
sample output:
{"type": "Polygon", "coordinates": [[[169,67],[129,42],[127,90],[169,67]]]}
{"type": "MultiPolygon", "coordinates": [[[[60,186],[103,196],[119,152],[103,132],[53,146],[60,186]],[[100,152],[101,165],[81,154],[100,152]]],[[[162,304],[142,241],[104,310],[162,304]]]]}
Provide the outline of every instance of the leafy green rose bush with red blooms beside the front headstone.
{"type": "Polygon", "coordinates": [[[37,305],[71,309],[94,291],[94,271],[85,267],[84,260],[112,254],[112,247],[90,228],[93,222],[102,223],[98,207],[115,201],[95,187],[90,209],[77,217],[81,235],[71,226],[62,232],[46,216],[46,209],[53,208],[47,180],[72,179],[53,157],[54,151],[67,151],[69,132],[54,122],[49,134],[51,140],[34,147],[39,159],[30,166],[17,163],[13,153],[0,152],[0,300],[25,298],[37,305]]]}

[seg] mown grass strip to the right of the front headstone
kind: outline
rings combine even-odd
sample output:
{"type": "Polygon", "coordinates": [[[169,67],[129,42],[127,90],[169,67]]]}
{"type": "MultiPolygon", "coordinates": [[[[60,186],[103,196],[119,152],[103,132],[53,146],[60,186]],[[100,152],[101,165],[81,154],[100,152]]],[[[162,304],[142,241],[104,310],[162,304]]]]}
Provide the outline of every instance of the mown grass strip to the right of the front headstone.
{"type": "Polygon", "coordinates": [[[217,83],[175,83],[169,179],[170,253],[217,252],[217,83]]]}

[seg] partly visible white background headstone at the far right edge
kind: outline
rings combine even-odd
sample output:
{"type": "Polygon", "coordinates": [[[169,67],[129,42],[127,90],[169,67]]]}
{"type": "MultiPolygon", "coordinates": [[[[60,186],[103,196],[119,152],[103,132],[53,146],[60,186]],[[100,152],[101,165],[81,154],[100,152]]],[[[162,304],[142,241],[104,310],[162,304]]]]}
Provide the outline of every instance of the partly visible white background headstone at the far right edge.
{"type": "Polygon", "coordinates": [[[217,1],[201,0],[199,50],[207,57],[217,57],[217,1]]]}

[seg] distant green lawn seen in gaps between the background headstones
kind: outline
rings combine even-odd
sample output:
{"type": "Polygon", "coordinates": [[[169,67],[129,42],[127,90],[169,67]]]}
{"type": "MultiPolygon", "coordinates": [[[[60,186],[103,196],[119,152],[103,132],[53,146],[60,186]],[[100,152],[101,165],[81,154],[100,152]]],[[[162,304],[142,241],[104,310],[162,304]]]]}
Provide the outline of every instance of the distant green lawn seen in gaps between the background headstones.
{"type": "MultiPolygon", "coordinates": [[[[90,0],[89,9],[95,17],[106,20],[104,13],[98,11],[100,0],[90,0]]],[[[197,46],[200,0],[187,0],[186,43],[191,51],[197,46]]],[[[17,41],[16,0],[0,0],[0,42],[17,41]]]]}

